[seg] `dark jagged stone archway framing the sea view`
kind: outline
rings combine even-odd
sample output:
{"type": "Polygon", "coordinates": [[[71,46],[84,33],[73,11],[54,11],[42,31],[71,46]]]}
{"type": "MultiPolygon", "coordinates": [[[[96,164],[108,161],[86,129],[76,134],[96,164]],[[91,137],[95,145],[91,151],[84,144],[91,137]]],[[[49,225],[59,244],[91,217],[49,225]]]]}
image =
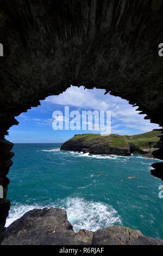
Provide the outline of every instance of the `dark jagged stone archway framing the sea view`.
{"type": "MultiPolygon", "coordinates": [[[[163,126],[161,0],[0,0],[0,234],[10,202],[12,144],[4,139],[16,116],[70,85],[104,88],[137,105],[163,126]]],[[[155,157],[163,159],[161,148],[155,157]]],[[[163,164],[152,174],[163,178],[163,164]]],[[[1,238],[1,237],[0,237],[1,238]]]]}

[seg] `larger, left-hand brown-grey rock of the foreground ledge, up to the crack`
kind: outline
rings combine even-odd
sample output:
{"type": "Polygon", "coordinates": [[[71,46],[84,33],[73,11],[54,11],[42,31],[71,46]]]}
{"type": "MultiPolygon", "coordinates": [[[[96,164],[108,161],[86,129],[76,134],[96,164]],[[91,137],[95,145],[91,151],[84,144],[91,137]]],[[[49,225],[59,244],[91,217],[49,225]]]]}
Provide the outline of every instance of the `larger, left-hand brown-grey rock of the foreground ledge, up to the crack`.
{"type": "Polygon", "coordinates": [[[87,245],[93,233],[75,234],[65,210],[43,209],[27,212],[5,231],[2,245],[87,245]]]}

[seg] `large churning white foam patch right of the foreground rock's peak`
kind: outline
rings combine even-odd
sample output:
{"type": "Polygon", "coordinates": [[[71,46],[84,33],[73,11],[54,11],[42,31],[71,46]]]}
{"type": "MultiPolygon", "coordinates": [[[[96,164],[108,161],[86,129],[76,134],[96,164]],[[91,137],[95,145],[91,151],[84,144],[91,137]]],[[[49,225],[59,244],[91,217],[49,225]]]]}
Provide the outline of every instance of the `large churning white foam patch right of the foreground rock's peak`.
{"type": "Polygon", "coordinates": [[[96,231],[99,228],[122,224],[117,211],[110,205],[86,201],[83,198],[67,198],[60,203],[64,205],[68,221],[76,232],[80,229],[96,231]]]}

